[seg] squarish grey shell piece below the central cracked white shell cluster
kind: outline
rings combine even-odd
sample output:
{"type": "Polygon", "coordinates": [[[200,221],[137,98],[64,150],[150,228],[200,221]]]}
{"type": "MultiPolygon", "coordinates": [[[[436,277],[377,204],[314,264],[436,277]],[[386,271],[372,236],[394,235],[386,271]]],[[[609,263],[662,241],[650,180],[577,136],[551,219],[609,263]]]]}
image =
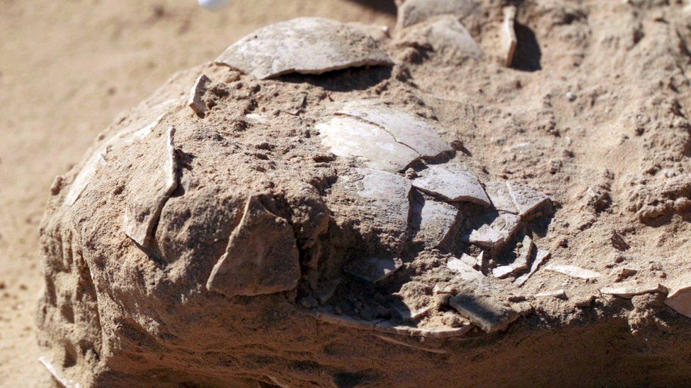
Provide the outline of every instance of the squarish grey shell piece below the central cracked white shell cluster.
{"type": "Polygon", "coordinates": [[[458,209],[452,204],[425,197],[413,201],[413,220],[419,219],[420,227],[415,239],[430,247],[441,245],[456,223],[458,209]]]}

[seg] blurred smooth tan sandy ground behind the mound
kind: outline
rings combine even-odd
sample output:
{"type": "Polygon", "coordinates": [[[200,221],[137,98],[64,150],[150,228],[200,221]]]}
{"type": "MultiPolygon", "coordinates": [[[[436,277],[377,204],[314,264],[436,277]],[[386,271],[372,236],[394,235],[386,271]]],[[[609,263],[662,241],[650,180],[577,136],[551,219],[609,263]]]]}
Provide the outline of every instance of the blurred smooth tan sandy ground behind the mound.
{"type": "Polygon", "coordinates": [[[1,0],[0,385],[51,384],[35,343],[38,224],[53,178],[118,112],[261,25],[295,16],[392,25],[379,8],[255,0],[209,13],[193,0],[1,0]]]}

